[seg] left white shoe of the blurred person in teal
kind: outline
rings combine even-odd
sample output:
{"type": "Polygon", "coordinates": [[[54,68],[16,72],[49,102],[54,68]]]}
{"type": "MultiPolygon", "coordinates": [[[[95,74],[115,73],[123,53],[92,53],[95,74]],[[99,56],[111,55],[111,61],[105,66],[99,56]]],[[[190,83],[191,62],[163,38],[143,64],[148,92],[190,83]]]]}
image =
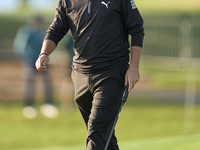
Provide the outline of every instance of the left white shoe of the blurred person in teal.
{"type": "Polygon", "coordinates": [[[37,116],[37,112],[34,107],[26,106],[23,108],[22,113],[27,119],[34,119],[37,116]]]}

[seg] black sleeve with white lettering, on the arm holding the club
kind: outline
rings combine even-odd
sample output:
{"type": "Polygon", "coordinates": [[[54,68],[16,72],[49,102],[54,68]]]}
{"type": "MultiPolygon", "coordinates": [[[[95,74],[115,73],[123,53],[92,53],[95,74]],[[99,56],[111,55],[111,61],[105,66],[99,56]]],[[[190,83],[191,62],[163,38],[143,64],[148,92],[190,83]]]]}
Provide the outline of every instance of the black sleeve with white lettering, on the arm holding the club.
{"type": "Polygon", "coordinates": [[[137,9],[134,0],[121,0],[122,2],[122,17],[125,27],[132,36],[131,46],[143,46],[144,28],[143,19],[137,9]]]}

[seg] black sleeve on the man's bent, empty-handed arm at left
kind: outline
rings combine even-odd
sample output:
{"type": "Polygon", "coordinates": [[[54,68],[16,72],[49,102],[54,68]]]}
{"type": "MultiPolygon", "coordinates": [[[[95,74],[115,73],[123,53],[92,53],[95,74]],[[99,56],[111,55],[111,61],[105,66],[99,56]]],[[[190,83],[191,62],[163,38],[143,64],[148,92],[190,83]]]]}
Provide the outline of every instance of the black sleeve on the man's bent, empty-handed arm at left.
{"type": "Polygon", "coordinates": [[[66,17],[66,9],[62,5],[62,0],[59,0],[58,7],[53,22],[47,30],[45,39],[52,40],[56,45],[66,35],[69,30],[69,25],[66,17]]]}

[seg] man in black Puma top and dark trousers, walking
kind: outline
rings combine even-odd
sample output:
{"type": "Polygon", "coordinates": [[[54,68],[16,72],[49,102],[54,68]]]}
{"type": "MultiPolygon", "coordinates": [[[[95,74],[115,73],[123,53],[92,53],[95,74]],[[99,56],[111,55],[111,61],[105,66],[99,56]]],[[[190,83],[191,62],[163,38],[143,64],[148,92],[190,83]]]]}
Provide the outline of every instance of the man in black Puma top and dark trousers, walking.
{"type": "MultiPolygon", "coordinates": [[[[86,149],[103,150],[124,85],[130,92],[139,80],[143,19],[134,0],[60,0],[36,62],[39,71],[47,69],[48,55],[69,29],[75,41],[75,102],[88,130],[86,149]]],[[[115,134],[108,149],[119,150],[115,134]]]]}

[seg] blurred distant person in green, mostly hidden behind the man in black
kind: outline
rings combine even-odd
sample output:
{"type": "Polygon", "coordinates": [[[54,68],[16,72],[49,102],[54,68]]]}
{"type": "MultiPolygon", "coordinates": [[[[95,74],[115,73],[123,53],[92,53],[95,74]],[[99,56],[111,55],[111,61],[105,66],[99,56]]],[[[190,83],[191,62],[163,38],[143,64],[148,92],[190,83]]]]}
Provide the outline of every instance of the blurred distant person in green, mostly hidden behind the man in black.
{"type": "Polygon", "coordinates": [[[60,89],[61,107],[68,113],[74,109],[74,86],[71,80],[71,64],[74,56],[74,41],[70,33],[65,35],[64,48],[67,50],[68,59],[66,62],[67,69],[65,78],[62,80],[60,89]],[[67,93],[67,94],[66,94],[67,93]]]}

